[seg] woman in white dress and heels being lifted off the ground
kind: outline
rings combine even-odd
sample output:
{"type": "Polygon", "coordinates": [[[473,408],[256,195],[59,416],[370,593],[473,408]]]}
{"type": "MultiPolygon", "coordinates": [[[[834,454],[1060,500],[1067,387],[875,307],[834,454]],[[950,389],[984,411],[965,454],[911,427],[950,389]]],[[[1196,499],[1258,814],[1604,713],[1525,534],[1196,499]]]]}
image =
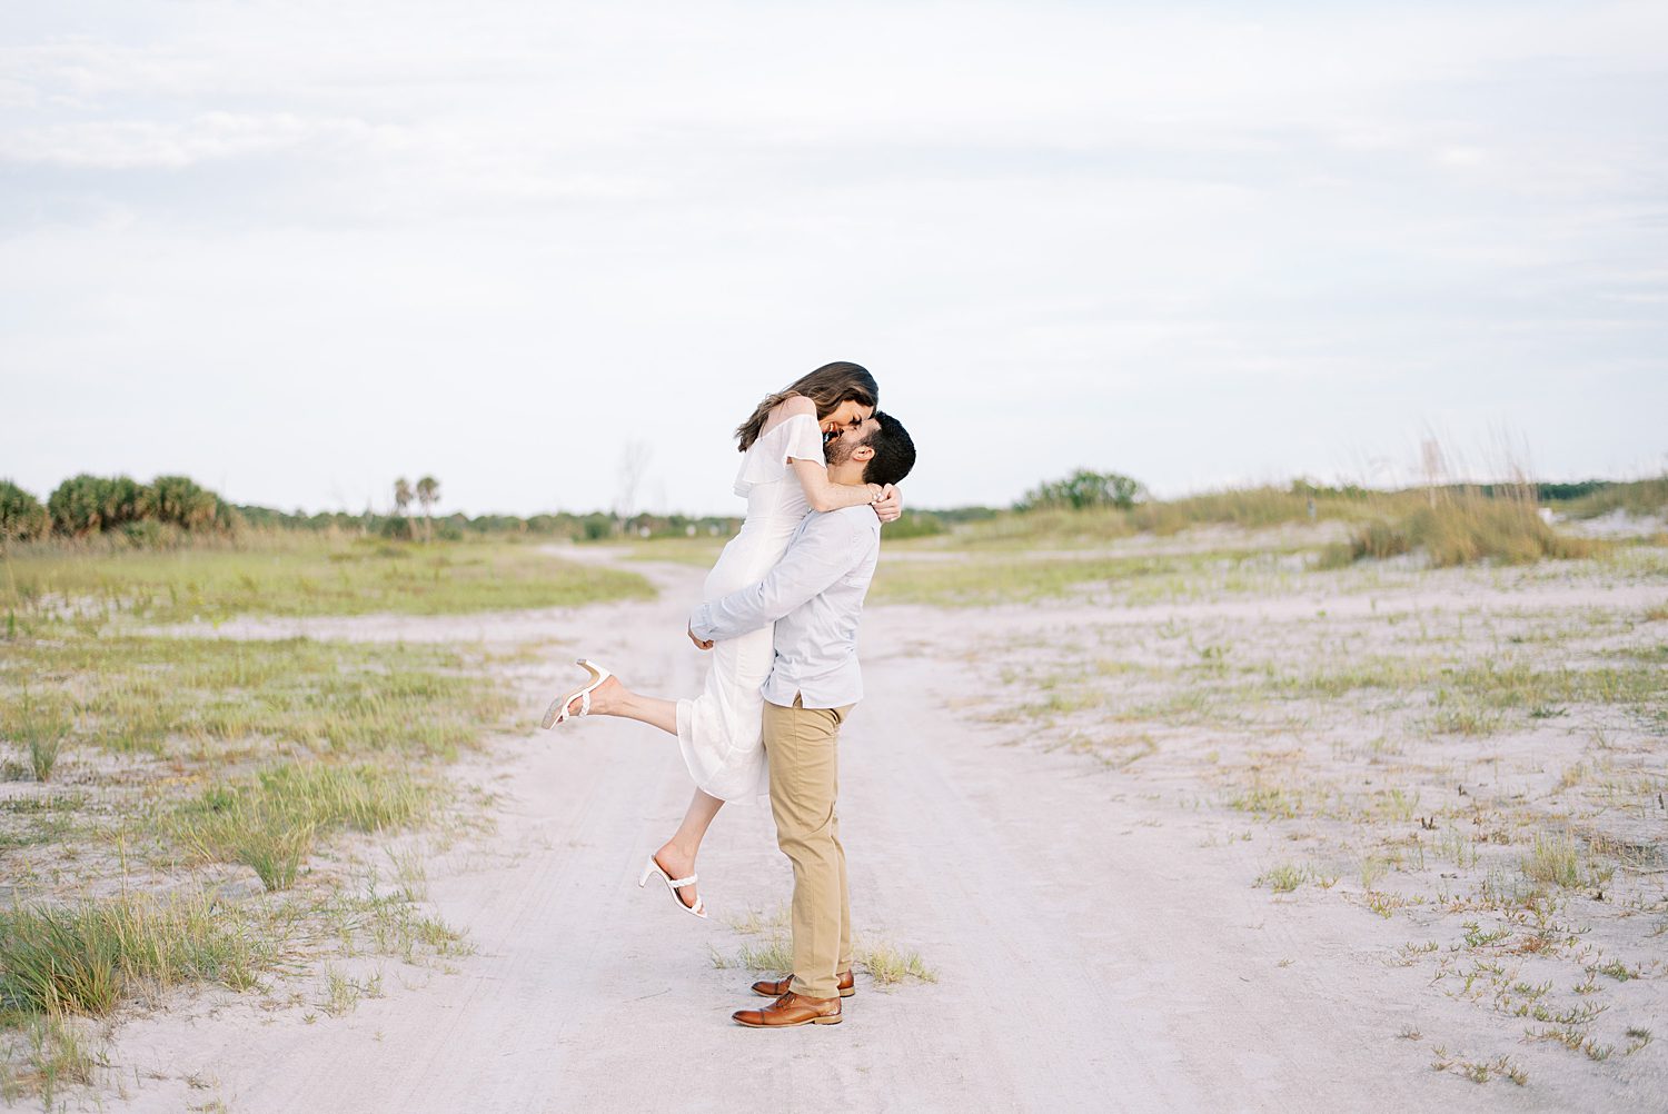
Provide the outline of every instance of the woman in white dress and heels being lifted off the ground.
{"type": "MultiPolygon", "coordinates": [[[[716,600],[757,584],[782,559],[799,522],[811,510],[871,504],[881,522],[902,514],[896,489],[829,482],[822,445],[862,425],[879,404],[874,377],[857,364],[824,364],[786,390],[767,395],[736,429],[741,469],[736,494],[747,500],[741,532],[707,574],[702,600],[716,600]]],[[[639,886],[657,874],[672,897],[697,917],[706,904],[696,891],[696,854],[726,800],[769,792],[759,724],[759,694],[774,657],[771,629],[754,630],[712,649],[712,670],[694,700],[657,700],[629,692],[594,662],[580,660],[592,680],[559,697],[545,712],[550,727],[572,715],[622,715],[677,735],[696,780],[682,824],[644,867],[639,886]]]]}

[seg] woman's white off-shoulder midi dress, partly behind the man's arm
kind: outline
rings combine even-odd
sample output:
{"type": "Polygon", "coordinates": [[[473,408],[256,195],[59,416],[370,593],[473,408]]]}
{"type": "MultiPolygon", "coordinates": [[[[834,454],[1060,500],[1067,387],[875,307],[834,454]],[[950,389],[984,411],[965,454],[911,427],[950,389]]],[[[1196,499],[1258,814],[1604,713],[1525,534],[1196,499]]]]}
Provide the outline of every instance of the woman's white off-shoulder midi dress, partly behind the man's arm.
{"type": "MultiPolygon", "coordinates": [[[[742,454],[736,494],[747,499],[747,519],[707,574],[702,602],[757,584],[782,560],[799,522],[811,512],[789,457],[822,459],[822,429],[796,414],[759,435],[742,454]]],[[[722,800],[767,794],[759,689],[776,657],[772,629],[751,630],[712,647],[712,672],[694,700],[677,702],[677,745],[696,785],[722,800]]]]}

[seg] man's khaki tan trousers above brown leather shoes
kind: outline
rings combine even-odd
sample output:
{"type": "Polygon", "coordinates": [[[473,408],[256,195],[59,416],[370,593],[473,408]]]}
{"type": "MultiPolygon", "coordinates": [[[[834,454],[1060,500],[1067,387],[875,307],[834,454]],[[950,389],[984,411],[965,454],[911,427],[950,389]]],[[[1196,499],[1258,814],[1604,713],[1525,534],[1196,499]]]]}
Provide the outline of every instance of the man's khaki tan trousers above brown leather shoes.
{"type": "Polygon", "coordinates": [[[839,725],[846,707],[764,702],[776,846],[794,864],[794,994],[834,997],[851,971],[851,897],[839,842],[839,725]]]}

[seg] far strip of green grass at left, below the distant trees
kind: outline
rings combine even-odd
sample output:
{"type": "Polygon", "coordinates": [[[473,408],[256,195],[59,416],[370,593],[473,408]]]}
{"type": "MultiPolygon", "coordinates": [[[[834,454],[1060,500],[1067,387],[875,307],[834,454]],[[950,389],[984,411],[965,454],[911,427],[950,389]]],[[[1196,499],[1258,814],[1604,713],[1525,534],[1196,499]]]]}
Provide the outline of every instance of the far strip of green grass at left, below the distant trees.
{"type": "Polygon", "coordinates": [[[330,542],[265,537],[255,550],[92,552],[27,547],[8,559],[18,614],[132,615],[147,622],[232,615],[444,615],[652,599],[634,572],[560,560],[512,542],[330,542]]]}

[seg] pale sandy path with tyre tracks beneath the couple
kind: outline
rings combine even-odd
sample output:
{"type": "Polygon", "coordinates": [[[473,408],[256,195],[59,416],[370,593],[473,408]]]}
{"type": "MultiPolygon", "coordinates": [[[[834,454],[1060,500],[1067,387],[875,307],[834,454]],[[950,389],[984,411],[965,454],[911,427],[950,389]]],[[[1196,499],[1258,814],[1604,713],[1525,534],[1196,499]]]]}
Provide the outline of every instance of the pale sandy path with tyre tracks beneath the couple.
{"type": "MultiPolygon", "coordinates": [[[[644,687],[694,692],[694,569],[662,599],[565,612],[549,635],[644,687]]],[[[504,794],[499,830],[430,866],[479,954],[385,961],[387,996],[340,1019],[230,994],[122,1027],[125,1102],[178,1111],[1368,1111],[1560,1109],[1555,1089],[1473,1087],[1398,1029],[1423,976],[1374,964],[1404,929],[1271,907],[1241,852],[1064,754],[951,719],[952,657],[911,654],[924,609],[866,622],[869,699],[842,740],[859,931],[919,947],[936,986],[866,981],[847,1022],[729,1024],[756,1002],[709,946],[789,892],[762,807],[726,810],[701,864],[709,922],[632,882],[687,799],[676,747],[636,724],[532,732],[464,770],[504,794]],[[1281,961],[1294,961],[1281,966],[1281,961]],[[210,1081],[188,1089],[185,1076],[210,1081]]],[[[962,612],[957,624],[967,622],[962,612]]],[[[560,660],[539,684],[569,679],[560,660]]],[[[1244,856],[1253,852],[1246,851],[1244,856]]]]}

